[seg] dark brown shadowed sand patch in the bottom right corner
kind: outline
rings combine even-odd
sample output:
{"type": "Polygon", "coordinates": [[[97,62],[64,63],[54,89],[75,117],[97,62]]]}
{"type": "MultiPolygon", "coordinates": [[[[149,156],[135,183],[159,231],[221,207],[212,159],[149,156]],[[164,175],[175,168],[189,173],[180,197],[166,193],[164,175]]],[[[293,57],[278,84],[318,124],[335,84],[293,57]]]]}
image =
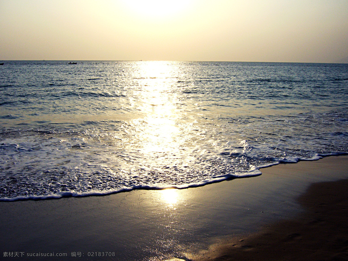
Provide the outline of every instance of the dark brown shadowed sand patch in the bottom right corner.
{"type": "Polygon", "coordinates": [[[348,179],[314,183],[297,200],[304,213],[225,239],[194,260],[348,260],[348,179]]]}

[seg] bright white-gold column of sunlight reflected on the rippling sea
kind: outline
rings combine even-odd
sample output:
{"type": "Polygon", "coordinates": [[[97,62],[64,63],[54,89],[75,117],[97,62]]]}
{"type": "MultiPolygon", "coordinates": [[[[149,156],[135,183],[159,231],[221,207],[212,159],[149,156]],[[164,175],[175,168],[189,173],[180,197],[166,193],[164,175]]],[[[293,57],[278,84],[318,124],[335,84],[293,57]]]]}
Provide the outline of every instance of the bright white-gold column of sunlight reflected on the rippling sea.
{"type": "Polygon", "coordinates": [[[133,122],[138,133],[135,145],[147,160],[162,165],[183,141],[177,90],[173,91],[180,74],[175,62],[150,61],[137,63],[133,75],[137,81],[133,103],[140,115],[133,122]]]}

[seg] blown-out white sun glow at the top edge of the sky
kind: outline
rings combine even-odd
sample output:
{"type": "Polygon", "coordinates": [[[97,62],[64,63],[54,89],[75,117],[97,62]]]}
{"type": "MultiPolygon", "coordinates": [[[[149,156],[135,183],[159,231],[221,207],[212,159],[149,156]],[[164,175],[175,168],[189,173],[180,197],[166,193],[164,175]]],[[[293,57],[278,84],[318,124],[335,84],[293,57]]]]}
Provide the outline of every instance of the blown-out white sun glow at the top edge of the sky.
{"type": "Polygon", "coordinates": [[[190,0],[127,0],[124,1],[131,11],[148,17],[168,17],[184,11],[190,0]]]}

